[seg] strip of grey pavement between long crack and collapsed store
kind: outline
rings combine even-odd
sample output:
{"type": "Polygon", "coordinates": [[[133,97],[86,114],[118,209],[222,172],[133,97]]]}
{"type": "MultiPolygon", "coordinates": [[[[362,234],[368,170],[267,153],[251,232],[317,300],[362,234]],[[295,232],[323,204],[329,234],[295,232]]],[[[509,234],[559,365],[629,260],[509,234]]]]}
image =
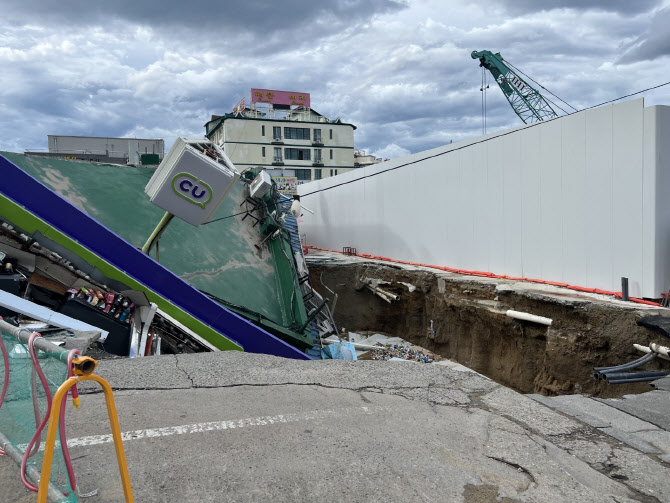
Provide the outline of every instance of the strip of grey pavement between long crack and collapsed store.
{"type": "MultiPolygon", "coordinates": [[[[268,355],[226,351],[103,361],[98,373],[119,390],[315,383],[352,390],[448,386],[467,392],[499,387],[475,373],[445,372],[436,365],[418,362],[406,362],[394,366],[393,371],[379,372],[379,365],[384,366],[384,363],[339,360],[297,362],[268,355]]],[[[383,368],[389,369],[389,366],[383,368]]],[[[93,386],[83,386],[82,390],[96,391],[93,386]]]]}

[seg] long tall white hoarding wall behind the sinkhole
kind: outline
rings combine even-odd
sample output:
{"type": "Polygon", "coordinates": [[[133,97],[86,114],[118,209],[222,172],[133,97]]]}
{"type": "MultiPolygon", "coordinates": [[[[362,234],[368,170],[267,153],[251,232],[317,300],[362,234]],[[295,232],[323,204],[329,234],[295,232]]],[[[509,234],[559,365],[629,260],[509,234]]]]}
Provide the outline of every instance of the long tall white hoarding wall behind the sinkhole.
{"type": "Polygon", "coordinates": [[[300,224],[310,245],[611,291],[625,276],[638,297],[670,287],[670,107],[644,108],[642,99],[299,193],[315,213],[300,224]]]}

